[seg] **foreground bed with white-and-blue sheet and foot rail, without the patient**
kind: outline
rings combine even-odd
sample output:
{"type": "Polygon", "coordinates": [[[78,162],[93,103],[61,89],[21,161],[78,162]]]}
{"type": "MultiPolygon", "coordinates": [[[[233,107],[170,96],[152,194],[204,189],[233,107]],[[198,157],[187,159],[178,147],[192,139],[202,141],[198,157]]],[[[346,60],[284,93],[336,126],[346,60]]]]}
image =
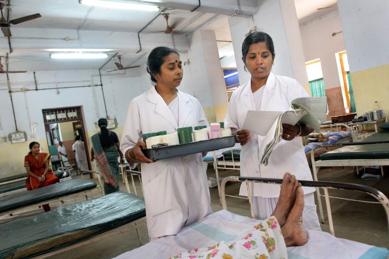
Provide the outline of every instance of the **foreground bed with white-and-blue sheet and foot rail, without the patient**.
{"type": "MultiPolygon", "coordinates": [[[[261,221],[237,215],[227,211],[225,185],[227,182],[260,182],[281,184],[282,179],[261,179],[245,177],[227,177],[221,183],[223,210],[212,213],[199,222],[184,227],[175,236],[166,236],[126,252],[117,259],[129,258],[169,258],[200,247],[211,247],[217,242],[233,242],[241,240],[251,233],[254,226],[261,221]]],[[[324,189],[336,188],[362,191],[378,199],[389,214],[388,198],[381,192],[365,185],[299,181],[303,186],[320,187],[324,189]]],[[[248,186],[248,185],[247,185],[248,186]]],[[[248,193],[250,193],[248,191],[248,193]]],[[[328,203],[329,204],[329,203],[328,203]]],[[[308,242],[303,246],[288,247],[289,258],[387,258],[389,251],[352,240],[339,239],[322,232],[307,230],[308,242]]]]}

